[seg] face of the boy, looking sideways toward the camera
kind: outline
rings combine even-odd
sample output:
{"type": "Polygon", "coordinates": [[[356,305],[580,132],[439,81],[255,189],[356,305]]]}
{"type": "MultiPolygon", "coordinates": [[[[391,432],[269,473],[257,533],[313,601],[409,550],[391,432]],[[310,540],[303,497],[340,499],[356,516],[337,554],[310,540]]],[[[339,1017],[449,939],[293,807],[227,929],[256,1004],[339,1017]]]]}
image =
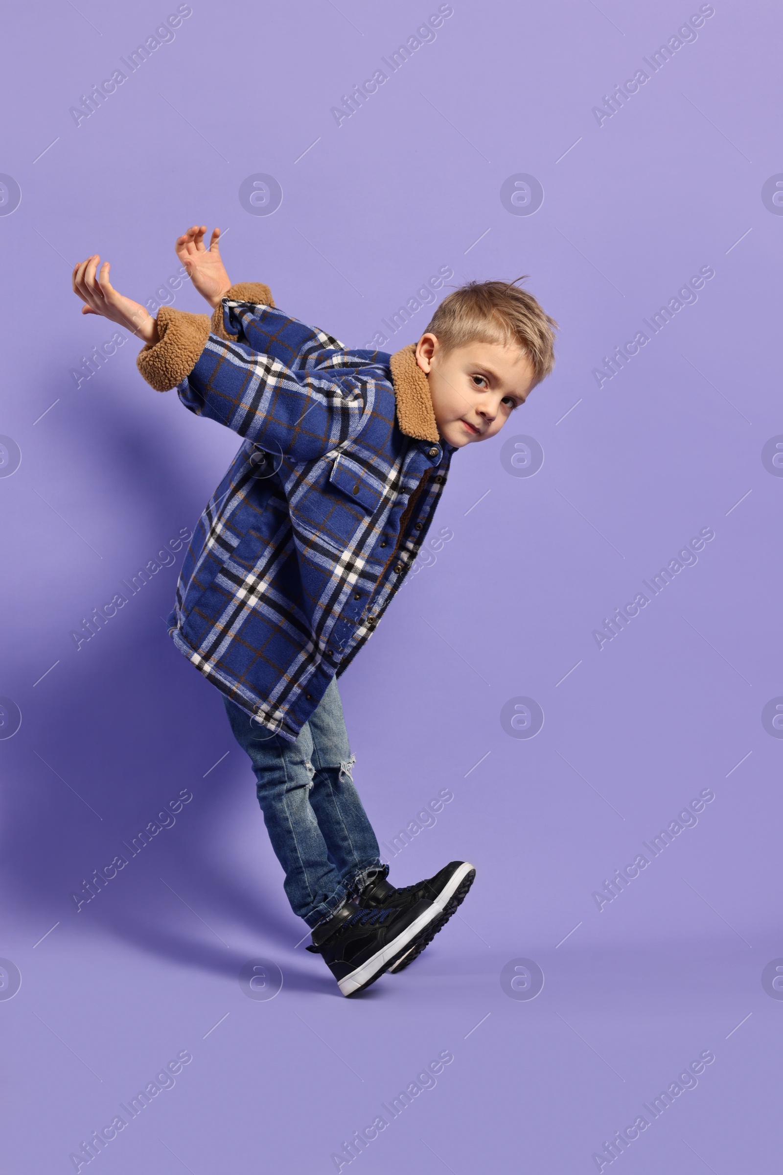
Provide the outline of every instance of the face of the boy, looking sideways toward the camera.
{"type": "Polygon", "coordinates": [[[444,351],[427,334],[416,361],[427,376],[438,431],[458,449],[500,432],[534,382],[533,364],[515,344],[472,342],[444,351]]]}

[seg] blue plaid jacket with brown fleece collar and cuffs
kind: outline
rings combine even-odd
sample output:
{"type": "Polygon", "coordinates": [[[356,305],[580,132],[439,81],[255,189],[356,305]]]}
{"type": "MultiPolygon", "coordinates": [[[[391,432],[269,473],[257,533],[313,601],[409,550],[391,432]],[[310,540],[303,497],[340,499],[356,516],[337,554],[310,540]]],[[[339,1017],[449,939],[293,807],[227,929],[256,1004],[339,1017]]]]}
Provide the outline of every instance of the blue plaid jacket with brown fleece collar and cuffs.
{"type": "Polygon", "coordinates": [[[414,348],[346,350],[232,286],[158,311],[158,391],[243,438],[183,562],[169,634],[254,720],[295,740],[371,636],[427,533],[452,454],[414,348]]]}

